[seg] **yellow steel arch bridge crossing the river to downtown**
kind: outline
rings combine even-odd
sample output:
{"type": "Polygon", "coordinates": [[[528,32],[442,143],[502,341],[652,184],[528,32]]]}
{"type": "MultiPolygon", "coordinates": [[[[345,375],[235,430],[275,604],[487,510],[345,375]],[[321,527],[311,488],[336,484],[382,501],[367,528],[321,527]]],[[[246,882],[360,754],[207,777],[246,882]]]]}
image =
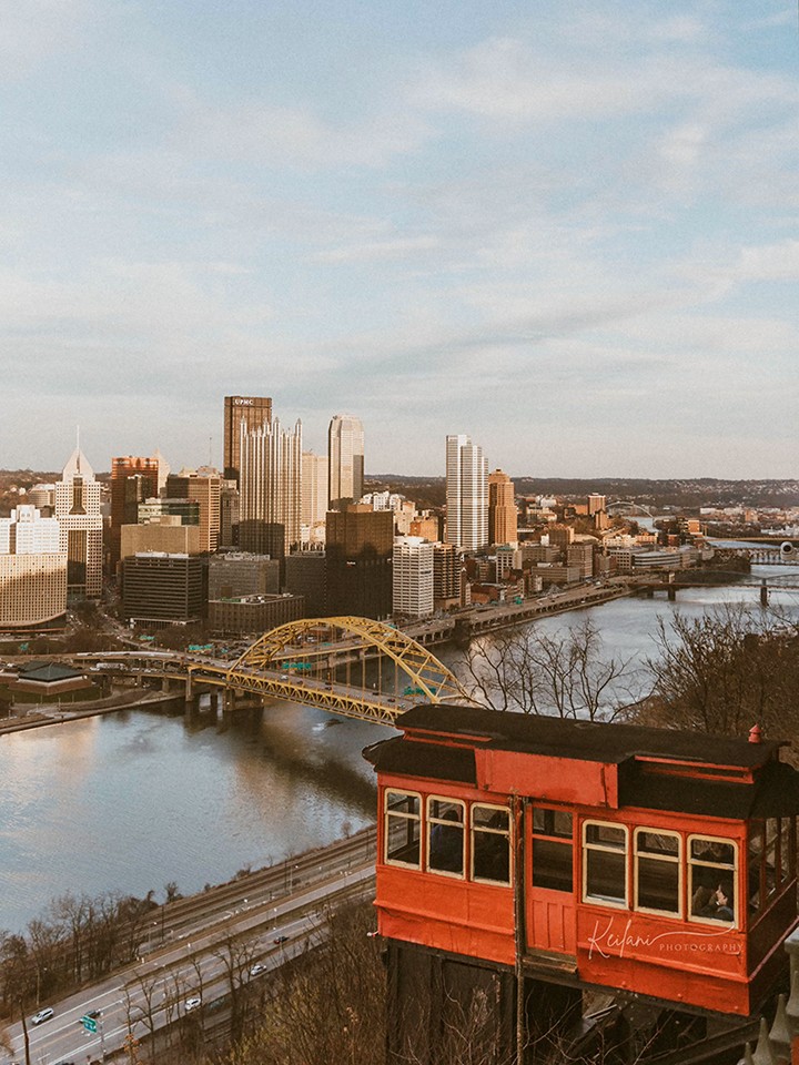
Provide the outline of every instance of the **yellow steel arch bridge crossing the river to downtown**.
{"type": "MultiPolygon", "coordinates": [[[[151,663],[156,656],[139,652],[151,663]]],[[[188,693],[198,684],[220,686],[382,724],[393,724],[417,702],[472,701],[425,647],[368,618],[291,621],[264,633],[232,665],[200,656],[181,656],[180,662],[188,693]]]]}

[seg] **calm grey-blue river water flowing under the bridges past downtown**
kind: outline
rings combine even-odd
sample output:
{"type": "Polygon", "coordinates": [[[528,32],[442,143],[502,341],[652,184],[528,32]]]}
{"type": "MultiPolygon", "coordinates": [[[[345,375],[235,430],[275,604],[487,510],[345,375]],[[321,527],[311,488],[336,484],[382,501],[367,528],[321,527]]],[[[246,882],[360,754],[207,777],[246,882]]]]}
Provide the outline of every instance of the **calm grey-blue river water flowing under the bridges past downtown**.
{"type": "MultiPolygon", "coordinates": [[[[799,567],[754,568],[799,584],[799,567]]],[[[544,618],[553,632],[586,613],[608,655],[643,662],[657,618],[722,602],[759,609],[756,588],[617,599],[544,618]]],[[[799,591],[772,602],[799,618],[799,591]]],[[[438,649],[453,662],[453,648],[438,649]]],[[[291,703],[244,711],[227,727],[122,711],[0,737],[0,931],[22,931],[59,895],[185,894],[244,868],[283,861],[374,821],[372,768],[361,757],[392,734],[291,703]]]]}

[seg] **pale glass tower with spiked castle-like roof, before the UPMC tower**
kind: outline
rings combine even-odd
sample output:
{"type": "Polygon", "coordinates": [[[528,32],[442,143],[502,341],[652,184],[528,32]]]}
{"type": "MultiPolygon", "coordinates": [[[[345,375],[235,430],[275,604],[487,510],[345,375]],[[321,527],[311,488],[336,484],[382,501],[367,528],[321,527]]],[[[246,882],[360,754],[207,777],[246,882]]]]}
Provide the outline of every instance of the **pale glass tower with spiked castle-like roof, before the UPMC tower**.
{"type": "Polygon", "coordinates": [[[300,542],[302,423],[281,428],[274,418],[255,429],[241,426],[239,546],[283,558],[300,542]]]}

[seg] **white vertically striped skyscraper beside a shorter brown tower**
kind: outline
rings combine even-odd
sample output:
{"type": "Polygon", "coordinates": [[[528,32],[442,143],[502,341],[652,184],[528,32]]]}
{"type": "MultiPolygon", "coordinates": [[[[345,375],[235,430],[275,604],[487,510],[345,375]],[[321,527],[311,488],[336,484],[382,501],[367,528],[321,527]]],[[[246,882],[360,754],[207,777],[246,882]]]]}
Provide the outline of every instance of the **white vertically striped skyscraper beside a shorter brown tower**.
{"type": "Polygon", "coordinates": [[[488,464],[468,436],[446,438],[447,544],[477,551],[488,544],[488,464]]]}

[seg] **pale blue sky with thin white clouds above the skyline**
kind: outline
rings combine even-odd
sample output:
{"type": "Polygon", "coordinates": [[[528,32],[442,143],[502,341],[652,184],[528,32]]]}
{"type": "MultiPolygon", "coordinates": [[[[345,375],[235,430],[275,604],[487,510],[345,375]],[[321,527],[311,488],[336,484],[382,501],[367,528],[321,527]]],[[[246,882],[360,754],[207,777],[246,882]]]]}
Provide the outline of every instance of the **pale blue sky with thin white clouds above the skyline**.
{"type": "Polygon", "coordinates": [[[795,0],[0,4],[0,468],[799,476],[795,0]]]}

